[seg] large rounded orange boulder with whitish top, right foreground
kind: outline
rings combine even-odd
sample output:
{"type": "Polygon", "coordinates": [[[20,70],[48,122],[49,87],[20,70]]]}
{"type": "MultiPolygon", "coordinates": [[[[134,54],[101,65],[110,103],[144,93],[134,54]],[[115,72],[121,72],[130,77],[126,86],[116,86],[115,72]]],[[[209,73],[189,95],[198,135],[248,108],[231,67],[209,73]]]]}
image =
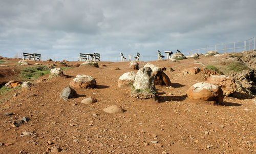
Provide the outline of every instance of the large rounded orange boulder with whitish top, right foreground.
{"type": "Polygon", "coordinates": [[[219,85],[199,82],[189,87],[187,90],[187,97],[190,99],[216,101],[217,104],[222,104],[224,96],[219,85]]]}

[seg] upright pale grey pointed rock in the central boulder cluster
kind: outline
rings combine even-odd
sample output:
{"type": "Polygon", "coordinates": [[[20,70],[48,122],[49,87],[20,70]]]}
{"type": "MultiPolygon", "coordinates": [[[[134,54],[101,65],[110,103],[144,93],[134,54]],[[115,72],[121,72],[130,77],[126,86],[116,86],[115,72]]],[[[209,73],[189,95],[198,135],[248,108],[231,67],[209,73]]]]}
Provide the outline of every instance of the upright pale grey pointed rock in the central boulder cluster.
{"type": "Polygon", "coordinates": [[[141,68],[137,72],[133,83],[135,89],[155,91],[154,74],[151,68],[141,68]]]}

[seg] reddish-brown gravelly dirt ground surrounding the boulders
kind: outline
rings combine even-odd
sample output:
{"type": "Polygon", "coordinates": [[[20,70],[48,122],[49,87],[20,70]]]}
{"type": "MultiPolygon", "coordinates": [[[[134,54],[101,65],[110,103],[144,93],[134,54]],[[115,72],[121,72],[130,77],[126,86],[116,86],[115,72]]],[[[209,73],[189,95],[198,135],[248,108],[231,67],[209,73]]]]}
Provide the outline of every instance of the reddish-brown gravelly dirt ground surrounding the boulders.
{"type": "MultiPolygon", "coordinates": [[[[187,89],[204,78],[202,73],[184,75],[184,69],[203,69],[222,58],[151,61],[167,68],[164,72],[172,82],[171,88],[156,86],[159,103],[132,98],[131,87],[117,87],[118,78],[133,71],[129,62],[99,61],[106,67],[75,67],[63,71],[67,77],[35,83],[30,91],[19,89],[1,95],[0,99],[11,99],[0,104],[0,153],[43,153],[54,147],[62,153],[256,153],[254,96],[225,97],[224,105],[186,97],[187,89]],[[115,67],[120,70],[113,70],[115,67]],[[175,71],[168,71],[170,67],[175,71]],[[60,99],[61,90],[78,74],[93,76],[97,87],[74,88],[77,98],[60,99]],[[87,97],[97,102],[82,104],[81,100],[87,97]],[[112,115],[102,111],[111,105],[121,106],[125,112],[112,115]],[[4,116],[7,112],[13,115],[4,116]],[[12,127],[13,121],[23,117],[30,120],[12,127]],[[33,135],[20,137],[24,131],[33,135]]],[[[17,66],[20,59],[3,60],[8,60],[4,63],[8,67],[0,67],[0,83],[22,80],[19,68],[27,66],[17,66]]],[[[28,61],[30,66],[36,62],[54,63],[28,61]]],[[[59,66],[58,62],[55,64],[59,66]]],[[[140,68],[144,64],[140,62],[140,68]]]]}

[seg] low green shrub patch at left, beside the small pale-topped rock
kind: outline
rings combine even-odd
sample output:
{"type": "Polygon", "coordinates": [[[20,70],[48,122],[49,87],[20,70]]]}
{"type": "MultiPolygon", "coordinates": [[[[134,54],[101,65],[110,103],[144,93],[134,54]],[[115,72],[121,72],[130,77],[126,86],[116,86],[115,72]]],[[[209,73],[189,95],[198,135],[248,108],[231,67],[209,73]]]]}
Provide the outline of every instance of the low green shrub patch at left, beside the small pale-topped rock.
{"type": "Polygon", "coordinates": [[[28,68],[23,68],[21,70],[22,70],[22,73],[20,73],[20,77],[23,77],[26,79],[36,79],[40,76],[50,73],[50,69],[47,68],[46,66],[28,67],[28,68]]]}

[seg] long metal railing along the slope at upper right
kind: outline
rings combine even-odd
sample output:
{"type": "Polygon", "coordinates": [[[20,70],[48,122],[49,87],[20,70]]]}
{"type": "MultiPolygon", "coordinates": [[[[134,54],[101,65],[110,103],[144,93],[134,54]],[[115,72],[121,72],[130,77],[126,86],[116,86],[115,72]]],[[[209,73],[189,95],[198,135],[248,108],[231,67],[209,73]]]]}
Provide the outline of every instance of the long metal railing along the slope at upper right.
{"type": "Polygon", "coordinates": [[[237,41],[237,42],[230,42],[230,43],[223,43],[220,45],[212,45],[206,46],[206,48],[200,48],[195,50],[190,50],[189,55],[198,53],[204,54],[208,51],[216,51],[219,53],[229,53],[229,52],[242,52],[256,49],[255,48],[255,37],[249,38],[245,41],[237,41]]]}

